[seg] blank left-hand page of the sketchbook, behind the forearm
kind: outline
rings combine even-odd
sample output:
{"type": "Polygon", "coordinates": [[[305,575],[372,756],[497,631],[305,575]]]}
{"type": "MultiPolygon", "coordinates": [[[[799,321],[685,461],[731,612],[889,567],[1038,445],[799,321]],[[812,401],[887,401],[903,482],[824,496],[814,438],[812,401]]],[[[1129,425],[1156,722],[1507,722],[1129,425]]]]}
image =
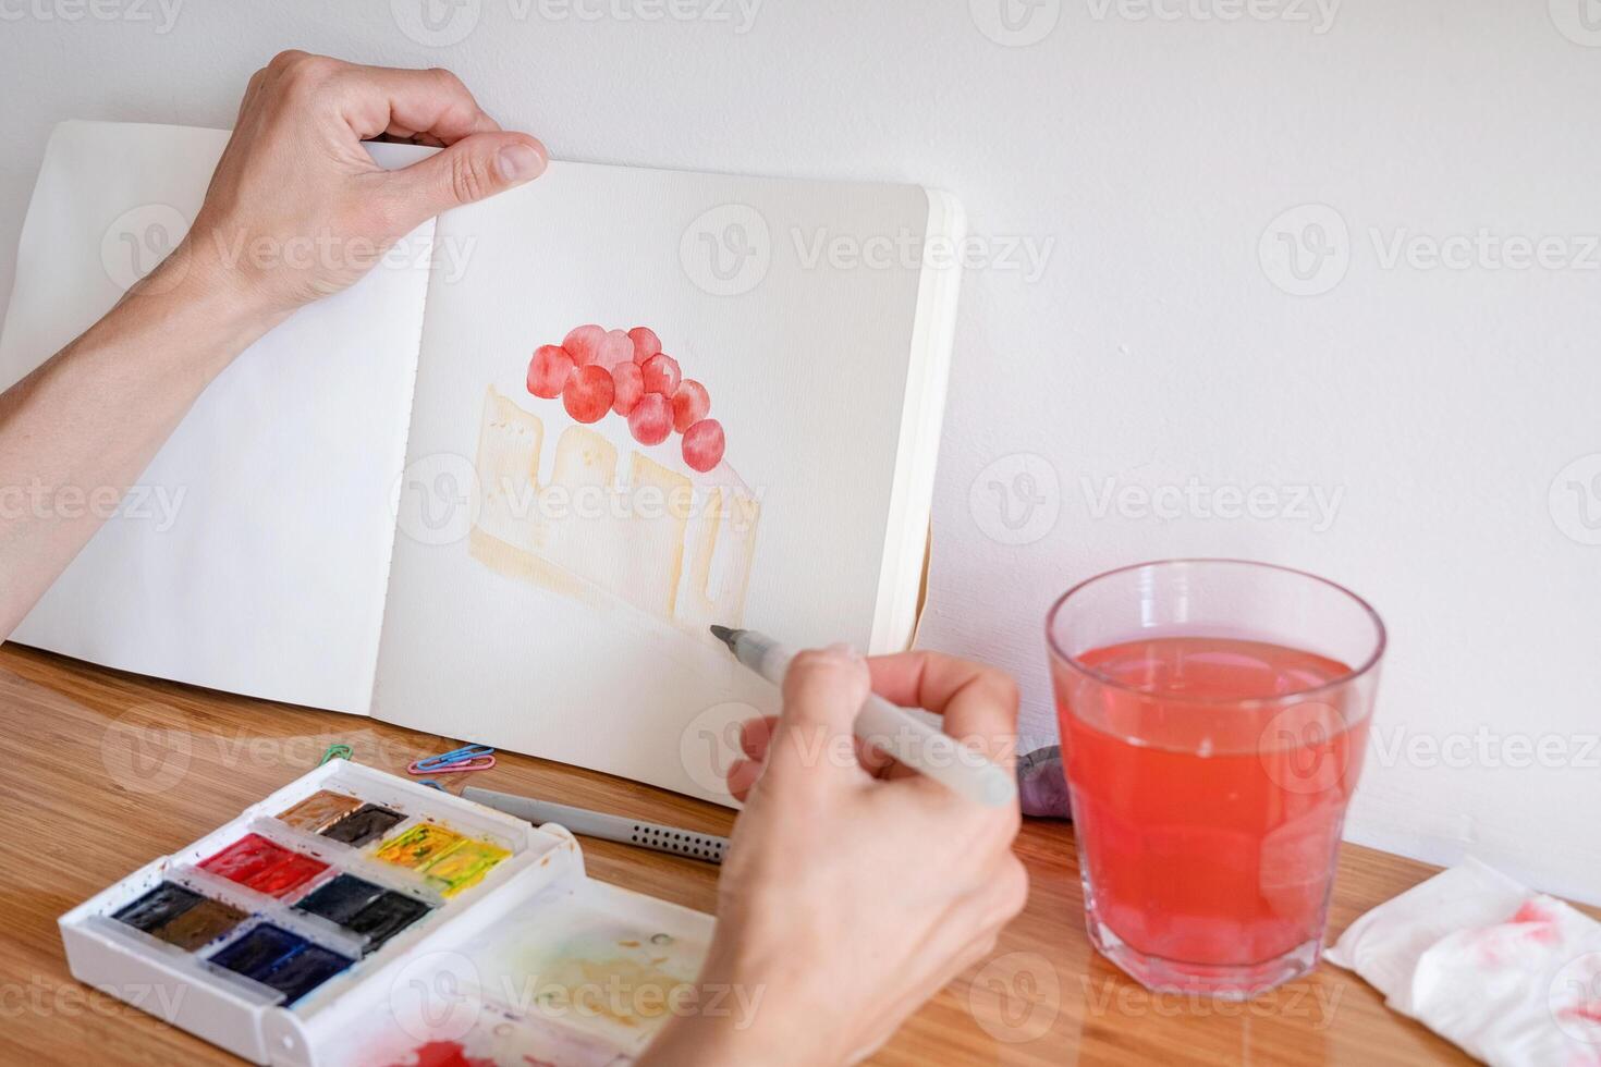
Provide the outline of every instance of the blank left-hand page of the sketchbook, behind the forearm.
{"type": "MultiPolygon", "coordinates": [[[[110,309],[183,237],[226,141],[178,126],[56,130],[22,229],[0,387],[110,309]]],[[[400,165],[426,149],[375,154],[400,165]]],[[[14,640],[365,713],[431,237],[432,224],[242,354],[14,640]]]]}

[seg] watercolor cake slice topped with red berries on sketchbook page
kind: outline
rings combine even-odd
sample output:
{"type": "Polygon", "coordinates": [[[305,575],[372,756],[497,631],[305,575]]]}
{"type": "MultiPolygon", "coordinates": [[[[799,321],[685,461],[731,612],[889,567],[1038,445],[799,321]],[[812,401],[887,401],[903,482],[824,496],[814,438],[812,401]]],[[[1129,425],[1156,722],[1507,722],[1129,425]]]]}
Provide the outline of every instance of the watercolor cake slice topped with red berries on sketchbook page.
{"type": "Polygon", "coordinates": [[[760,494],[727,459],[709,389],[655,331],[584,325],[533,352],[527,390],[527,406],[484,398],[472,558],[696,640],[738,625],[760,494]]]}

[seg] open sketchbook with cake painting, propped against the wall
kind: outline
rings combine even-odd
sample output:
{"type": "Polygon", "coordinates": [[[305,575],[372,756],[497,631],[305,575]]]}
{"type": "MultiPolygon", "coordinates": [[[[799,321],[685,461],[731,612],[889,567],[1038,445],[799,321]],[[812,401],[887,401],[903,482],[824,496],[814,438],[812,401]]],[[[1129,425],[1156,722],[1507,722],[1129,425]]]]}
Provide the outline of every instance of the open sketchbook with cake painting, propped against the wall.
{"type": "MultiPolygon", "coordinates": [[[[226,138],[54,131],[0,387],[176,243],[226,138]]],[[[727,801],[776,696],[708,624],[911,638],[959,280],[924,250],[961,227],[914,186],[552,163],[247,350],[14,640],[727,801]]]]}

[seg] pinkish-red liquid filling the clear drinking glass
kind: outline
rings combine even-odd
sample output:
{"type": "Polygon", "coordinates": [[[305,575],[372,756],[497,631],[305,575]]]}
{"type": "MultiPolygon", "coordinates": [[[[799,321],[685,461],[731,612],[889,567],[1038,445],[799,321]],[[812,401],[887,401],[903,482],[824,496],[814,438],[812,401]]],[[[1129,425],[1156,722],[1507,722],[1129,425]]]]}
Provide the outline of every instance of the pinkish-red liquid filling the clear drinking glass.
{"type": "Polygon", "coordinates": [[[1111,681],[1057,685],[1098,918],[1142,953],[1206,966],[1319,939],[1367,715],[1348,713],[1338,686],[1318,688],[1350,667],[1212,637],[1076,659],[1111,681]]]}

